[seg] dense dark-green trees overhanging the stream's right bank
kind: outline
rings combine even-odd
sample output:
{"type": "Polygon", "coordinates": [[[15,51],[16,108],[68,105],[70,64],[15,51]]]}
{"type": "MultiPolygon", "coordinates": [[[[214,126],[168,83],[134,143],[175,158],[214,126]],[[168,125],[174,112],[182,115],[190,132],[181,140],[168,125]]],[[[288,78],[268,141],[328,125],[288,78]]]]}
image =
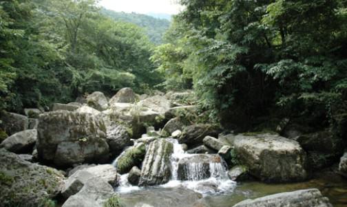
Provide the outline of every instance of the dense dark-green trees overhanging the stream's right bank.
{"type": "Polygon", "coordinates": [[[165,87],[191,79],[210,120],[231,126],[249,129],[274,110],[333,122],[347,97],[344,1],[180,2],[151,58],[165,87]]]}

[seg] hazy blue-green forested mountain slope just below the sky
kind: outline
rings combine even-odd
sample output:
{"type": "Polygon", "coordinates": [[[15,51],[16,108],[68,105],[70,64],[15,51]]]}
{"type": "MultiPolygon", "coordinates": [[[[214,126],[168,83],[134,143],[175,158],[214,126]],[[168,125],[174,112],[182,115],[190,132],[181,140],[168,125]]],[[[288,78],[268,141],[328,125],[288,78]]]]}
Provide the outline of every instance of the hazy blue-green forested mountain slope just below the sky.
{"type": "Polygon", "coordinates": [[[134,23],[141,28],[145,28],[149,39],[156,45],[160,45],[162,43],[162,36],[170,26],[169,20],[158,19],[146,14],[115,12],[113,10],[107,10],[105,8],[101,9],[101,13],[116,21],[134,23]]]}

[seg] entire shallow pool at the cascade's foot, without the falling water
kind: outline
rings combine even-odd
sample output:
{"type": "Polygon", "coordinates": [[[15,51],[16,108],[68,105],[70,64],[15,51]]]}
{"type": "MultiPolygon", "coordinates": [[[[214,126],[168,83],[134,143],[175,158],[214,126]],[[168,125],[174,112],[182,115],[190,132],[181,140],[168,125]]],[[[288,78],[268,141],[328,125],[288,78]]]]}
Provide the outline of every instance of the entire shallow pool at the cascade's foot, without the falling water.
{"type": "MultiPolygon", "coordinates": [[[[187,186],[183,186],[187,188],[187,186]]],[[[238,182],[232,190],[224,193],[202,194],[200,199],[196,195],[187,195],[185,190],[177,190],[169,186],[155,188],[137,188],[133,192],[121,195],[128,206],[162,207],[162,204],[171,207],[226,207],[233,206],[244,199],[254,199],[275,193],[293,190],[318,188],[322,194],[330,199],[335,207],[347,206],[347,179],[343,179],[333,171],[326,170],[318,173],[307,182],[293,184],[264,184],[262,182],[238,182]],[[180,193],[182,192],[182,193],[180,193]],[[131,201],[131,202],[129,202],[131,201]],[[140,204],[140,205],[136,205],[140,204]]]]}

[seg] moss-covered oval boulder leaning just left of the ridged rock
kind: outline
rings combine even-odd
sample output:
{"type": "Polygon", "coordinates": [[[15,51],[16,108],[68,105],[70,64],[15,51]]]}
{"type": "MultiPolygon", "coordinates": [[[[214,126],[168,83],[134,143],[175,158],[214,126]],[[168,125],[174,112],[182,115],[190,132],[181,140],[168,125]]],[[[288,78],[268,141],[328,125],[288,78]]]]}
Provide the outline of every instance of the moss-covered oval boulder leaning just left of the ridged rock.
{"type": "Polygon", "coordinates": [[[133,166],[140,166],[146,153],[146,146],[143,143],[136,144],[126,149],[116,160],[118,173],[128,173],[133,166]]]}

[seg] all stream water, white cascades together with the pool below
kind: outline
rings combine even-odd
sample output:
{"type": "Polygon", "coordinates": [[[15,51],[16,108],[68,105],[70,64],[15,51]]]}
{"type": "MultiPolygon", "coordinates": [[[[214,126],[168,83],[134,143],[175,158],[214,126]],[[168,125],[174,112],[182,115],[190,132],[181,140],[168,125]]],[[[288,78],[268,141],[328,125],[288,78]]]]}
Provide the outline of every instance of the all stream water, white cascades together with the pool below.
{"type": "Polygon", "coordinates": [[[227,167],[224,164],[210,164],[211,176],[207,179],[200,179],[202,171],[199,164],[189,164],[189,180],[180,181],[177,173],[178,162],[182,158],[193,155],[185,153],[177,140],[168,139],[168,141],[174,144],[170,182],[144,188],[132,186],[127,182],[127,174],[122,175],[116,192],[120,194],[125,206],[226,207],[233,206],[244,199],[306,188],[318,188],[335,207],[347,206],[347,180],[328,170],[315,174],[314,178],[307,182],[294,184],[236,183],[228,178],[227,167]]]}

